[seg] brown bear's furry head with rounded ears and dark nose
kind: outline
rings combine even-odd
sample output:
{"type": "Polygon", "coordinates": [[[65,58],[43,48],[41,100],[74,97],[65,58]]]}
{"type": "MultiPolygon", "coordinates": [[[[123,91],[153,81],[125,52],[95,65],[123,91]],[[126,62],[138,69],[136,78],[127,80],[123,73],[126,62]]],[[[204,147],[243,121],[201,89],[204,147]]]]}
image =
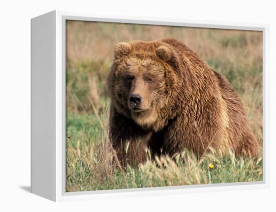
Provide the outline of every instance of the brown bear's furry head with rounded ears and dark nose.
{"type": "Polygon", "coordinates": [[[173,57],[173,49],[166,43],[118,43],[108,80],[116,110],[145,129],[162,125],[161,119],[170,115],[168,109],[162,109],[173,104],[176,86],[173,57]]]}

